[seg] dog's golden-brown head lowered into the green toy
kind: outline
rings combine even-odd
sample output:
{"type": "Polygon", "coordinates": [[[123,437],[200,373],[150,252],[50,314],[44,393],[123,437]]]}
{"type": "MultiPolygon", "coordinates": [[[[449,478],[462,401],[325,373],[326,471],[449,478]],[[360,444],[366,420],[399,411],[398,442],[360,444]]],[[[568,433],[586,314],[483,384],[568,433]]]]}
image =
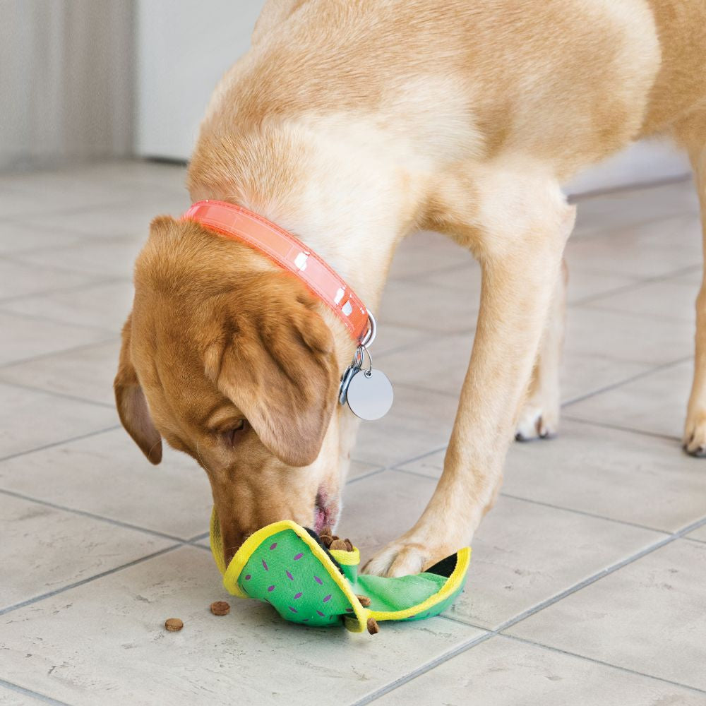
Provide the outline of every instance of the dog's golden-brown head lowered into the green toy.
{"type": "Polygon", "coordinates": [[[337,519],[340,370],[320,306],[247,246],[194,222],[152,222],[116,403],[152,463],[164,439],[205,469],[226,561],[270,522],[321,530],[337,519]]]}

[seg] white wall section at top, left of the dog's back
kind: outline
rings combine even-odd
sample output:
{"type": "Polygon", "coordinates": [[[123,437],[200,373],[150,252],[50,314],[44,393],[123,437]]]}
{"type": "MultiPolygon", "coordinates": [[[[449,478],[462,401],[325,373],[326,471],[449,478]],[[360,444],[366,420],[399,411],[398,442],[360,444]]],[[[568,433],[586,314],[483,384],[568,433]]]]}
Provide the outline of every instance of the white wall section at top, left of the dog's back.
{"type": "Polygon", "coordinates": [[[265,0],[137,0],[136,152],[186,160],[216,83],[265,0]]]}

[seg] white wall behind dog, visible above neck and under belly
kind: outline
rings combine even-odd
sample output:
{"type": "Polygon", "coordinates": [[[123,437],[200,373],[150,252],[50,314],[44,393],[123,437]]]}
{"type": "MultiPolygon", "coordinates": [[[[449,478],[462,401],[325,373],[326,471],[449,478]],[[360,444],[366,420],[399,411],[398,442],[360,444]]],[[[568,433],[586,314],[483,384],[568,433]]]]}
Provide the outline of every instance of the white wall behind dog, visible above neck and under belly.
{"type": "MultiPolygon", "coordinates": [[[[139,155],[187,160],[205,106],[226,69],[247,51],[264,0],[137,0],[139,155]],[[174,8],[179,8],[175,11],[174,8]]],[[[667,143],[633,145],[568,184],[569,193],[688,173],[667,143]]]]}

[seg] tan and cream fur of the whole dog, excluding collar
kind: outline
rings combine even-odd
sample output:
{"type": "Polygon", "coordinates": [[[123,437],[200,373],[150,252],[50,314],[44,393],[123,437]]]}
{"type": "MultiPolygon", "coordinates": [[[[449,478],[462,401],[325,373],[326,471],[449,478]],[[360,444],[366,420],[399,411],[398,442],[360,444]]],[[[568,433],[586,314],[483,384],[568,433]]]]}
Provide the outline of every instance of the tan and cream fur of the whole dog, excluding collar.
{"type": "MultiPolygon", "coordinates": [[[[191,198],[297,234],[372,311],[415,229],[447,234],[482,268],[443,474],[369,571],[416,573],[469,544],[515,433],[556,431],[575,218],[561,184],[659,133],[688,150],[706,213],[705,66],[702,0],[265,5],[208,107],[191,198]]],[[[164,438],[203,466],[226,560],[274,520],[335,525],[358,426],[335,404],[354,349],[340,321],[264,256],[193,222],[152,222],[135,273],[121,421],[152,462],[164,438]]],[[[684,441],[703,454],[706,287],[697,311],[684,441]]]]}

